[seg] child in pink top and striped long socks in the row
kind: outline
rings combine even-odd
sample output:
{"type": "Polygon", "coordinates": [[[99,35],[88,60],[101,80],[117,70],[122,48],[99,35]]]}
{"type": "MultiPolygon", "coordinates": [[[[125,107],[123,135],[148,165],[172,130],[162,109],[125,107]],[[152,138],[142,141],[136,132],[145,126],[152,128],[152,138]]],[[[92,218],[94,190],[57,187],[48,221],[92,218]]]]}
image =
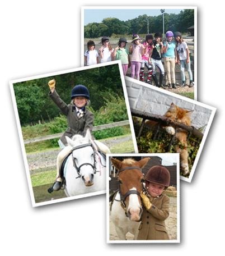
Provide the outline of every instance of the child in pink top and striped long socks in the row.
{"type": "Polygon", "coordinates": [[[143,43],[144,54],[142,55],[142,63],[140,64],[140,81],[142,82],[144,81],[144,66],[148,68],[148,79],[146,81],[147,84],[152,84],[151,78],[152,78],[153,70],[152,70],[152,66],[148,63],[149,54],[151,54],[153,51],[152,39],[153,39],[152,34],[146,35],[146,42],[143,43]]]}

